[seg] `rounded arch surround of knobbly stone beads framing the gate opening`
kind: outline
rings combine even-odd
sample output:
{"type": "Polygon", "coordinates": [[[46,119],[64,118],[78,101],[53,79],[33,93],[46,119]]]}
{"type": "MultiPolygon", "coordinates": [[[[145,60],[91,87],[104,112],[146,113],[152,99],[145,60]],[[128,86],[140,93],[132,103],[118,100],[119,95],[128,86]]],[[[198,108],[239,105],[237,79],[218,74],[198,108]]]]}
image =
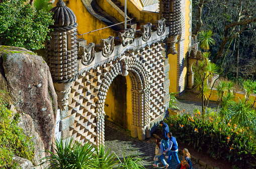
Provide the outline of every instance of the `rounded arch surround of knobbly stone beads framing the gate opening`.
{"type": "Polygon", "coordinates": [[[149,126],[149,81],[148,73],[142,62],[137,58],[124,57],[120,59],[105,75],[99,89],[99,100],[96,103],[96,134],[97,144],[104,144],[104,103],[113,79],[118,75],[129,75],[131,80],[132,94],[132,124],[131,133],[133,137],[145,139],[150,137],[149,126]]]}

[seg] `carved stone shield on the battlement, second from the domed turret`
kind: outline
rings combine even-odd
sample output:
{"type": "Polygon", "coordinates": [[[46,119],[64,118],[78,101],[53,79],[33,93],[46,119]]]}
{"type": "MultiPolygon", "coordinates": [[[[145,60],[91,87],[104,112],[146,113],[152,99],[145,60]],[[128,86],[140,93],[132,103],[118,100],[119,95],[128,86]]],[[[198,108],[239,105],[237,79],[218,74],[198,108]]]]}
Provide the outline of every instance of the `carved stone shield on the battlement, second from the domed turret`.
{"type": "Polygon", "coordinates": [[[102,54],[108,57],[114,51],[114,36],[109,36],[108,38],[101,39],[102,54]]]}

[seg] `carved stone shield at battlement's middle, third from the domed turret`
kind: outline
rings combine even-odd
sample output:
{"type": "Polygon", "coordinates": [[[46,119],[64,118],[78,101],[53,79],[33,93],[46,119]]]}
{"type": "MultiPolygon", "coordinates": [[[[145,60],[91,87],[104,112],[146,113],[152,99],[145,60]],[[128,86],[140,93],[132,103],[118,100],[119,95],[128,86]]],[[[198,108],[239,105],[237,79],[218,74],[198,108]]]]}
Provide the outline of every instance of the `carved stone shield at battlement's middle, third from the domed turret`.
{"type": "Polygon", "coordinates": [[[122,30],[122,32],[119,32],[118,36],[124,46],[131,44],[134,41],[135,28],[128,28],[128,29],[122,30]]]}

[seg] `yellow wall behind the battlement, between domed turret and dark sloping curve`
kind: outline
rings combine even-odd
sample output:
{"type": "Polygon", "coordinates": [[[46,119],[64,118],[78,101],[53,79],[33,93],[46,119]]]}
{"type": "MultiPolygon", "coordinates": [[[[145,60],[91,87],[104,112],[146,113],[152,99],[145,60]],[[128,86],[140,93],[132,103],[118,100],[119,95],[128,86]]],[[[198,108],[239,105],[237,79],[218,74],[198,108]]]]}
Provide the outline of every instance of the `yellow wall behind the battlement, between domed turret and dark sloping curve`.
{"type": "MultiPolygon", "coordinates": [[[[55,0],[53,3],[54,6],[56,6],[56,1],[57,0],[55,0]]],[[[66,0],[63,1],[66,2],[66,0]]],[[[100,19],[92,15],[83,5],[81,0],[69,0],[69,3],[66,3],[66,6],[68,6],[76,16],[76,22],[78,23],[77,32],[79,34],[108,26],[100,19]]],[[[100,43],[101,38],[107,38],[110,35],[117,36],[118,33],[111,28],[105,28],[92,33],[84,34],[83,39],[87,40],[87,44],[90,42],[98,44],[100,43]]],[[[77,35],[77,37],[81,38],[81,35],[77,35]]]]}

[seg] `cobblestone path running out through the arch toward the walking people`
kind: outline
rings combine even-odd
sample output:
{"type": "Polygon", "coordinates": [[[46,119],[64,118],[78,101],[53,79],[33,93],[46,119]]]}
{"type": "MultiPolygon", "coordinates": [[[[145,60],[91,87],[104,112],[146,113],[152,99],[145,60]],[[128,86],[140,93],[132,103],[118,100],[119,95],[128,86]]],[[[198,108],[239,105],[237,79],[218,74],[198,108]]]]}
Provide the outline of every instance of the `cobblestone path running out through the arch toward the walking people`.
{"type": "MultiPolygon", "coordinates": [[[[121,128],[120,126],[105,120],[105,146],[111,148],[122,159],[123,152],[127,155],[138,155],[143,157],[145,168],[153,167],[153,157],[155,155],[155,138],[151,137],[145,141],[131,137],[130,131],[121,128]]],[[[179,159],[183,157],[179,154],[179,159]]],[[[165,158],[166,160],[166,158],[165,158]]],[[[158,168],[165,168],[158,160],[158,168]]],[[[172,158],[168,168],[176,168],[176,161],[172,158]]],[[[201,169],[199,164],[193,163],[193,168],[201,169]]]]}

